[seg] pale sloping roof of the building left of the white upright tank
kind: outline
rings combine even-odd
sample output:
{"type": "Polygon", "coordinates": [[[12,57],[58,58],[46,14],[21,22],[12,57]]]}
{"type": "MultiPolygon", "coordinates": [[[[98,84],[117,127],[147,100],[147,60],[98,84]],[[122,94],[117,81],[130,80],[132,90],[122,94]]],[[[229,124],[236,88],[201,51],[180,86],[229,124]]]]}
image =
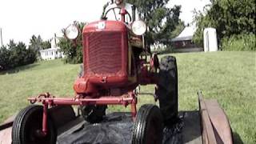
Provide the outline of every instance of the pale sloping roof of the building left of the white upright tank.
{"type": "Polygon", "coordinates": [[[196,28],[194,25],[186,26],[184,30],[182,30],[181,34],[178,34],[176,38],[171,39],[171,42],[191,40],[195,30],[196,28]]]}

